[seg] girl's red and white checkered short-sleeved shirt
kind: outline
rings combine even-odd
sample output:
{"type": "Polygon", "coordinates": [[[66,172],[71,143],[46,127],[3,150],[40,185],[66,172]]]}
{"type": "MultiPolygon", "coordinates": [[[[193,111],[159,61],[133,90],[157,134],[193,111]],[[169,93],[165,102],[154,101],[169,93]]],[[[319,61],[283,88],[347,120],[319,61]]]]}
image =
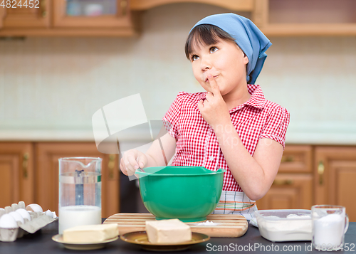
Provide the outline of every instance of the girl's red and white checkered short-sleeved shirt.
{"type": "MultiPolygon", "coordinates": [[[[250,99],[229,111],[242,143],[251,156],[261,138],[276,140],[284,147],[289,112],[266,100],[259,85],[248,85],[248,92],[250,99]]],[[[243,191],[229,170],[214,130],[198,109],[199,100],[205,96],[206,92],[179,92],[163,117],[166,129],[177,142],[172,166],[204,166],[214,171],[226,169],[223,191],[243,191]]]]}

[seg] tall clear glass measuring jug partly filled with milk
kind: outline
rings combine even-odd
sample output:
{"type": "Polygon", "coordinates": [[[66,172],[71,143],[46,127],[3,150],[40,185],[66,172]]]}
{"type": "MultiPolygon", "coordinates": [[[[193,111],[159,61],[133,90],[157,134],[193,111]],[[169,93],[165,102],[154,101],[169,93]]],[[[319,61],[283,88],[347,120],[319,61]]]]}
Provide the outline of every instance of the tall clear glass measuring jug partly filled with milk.
{"type": "Polygon", "coordinates": [[[101,223],[101,158],[60,158],[58,233],[101,223]]]}

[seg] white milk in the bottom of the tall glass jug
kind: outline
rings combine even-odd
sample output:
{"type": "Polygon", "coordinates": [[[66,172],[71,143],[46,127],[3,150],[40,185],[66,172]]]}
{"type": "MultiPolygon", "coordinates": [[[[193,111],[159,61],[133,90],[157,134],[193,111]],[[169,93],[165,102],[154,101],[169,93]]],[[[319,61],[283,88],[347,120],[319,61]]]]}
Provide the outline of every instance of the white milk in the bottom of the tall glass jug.
{"type": "Polygon", "coordinates": [[[98,206],[63,206],[59,209],[59,234],[67,228],[101,224],[101,208],[98,206]]]}

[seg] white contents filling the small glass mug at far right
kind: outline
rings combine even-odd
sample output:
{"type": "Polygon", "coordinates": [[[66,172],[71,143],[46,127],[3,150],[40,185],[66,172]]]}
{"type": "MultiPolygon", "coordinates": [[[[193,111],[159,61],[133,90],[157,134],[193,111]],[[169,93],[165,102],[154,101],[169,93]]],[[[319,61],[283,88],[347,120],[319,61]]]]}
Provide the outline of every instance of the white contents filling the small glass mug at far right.
{"type": "Polygon", "coordinates": [[[345,230],[345,216],[339,214],[329,214],[314,220],[313,244],[322,247],[338,247],[342,243],[342,236],[345,230]]]}

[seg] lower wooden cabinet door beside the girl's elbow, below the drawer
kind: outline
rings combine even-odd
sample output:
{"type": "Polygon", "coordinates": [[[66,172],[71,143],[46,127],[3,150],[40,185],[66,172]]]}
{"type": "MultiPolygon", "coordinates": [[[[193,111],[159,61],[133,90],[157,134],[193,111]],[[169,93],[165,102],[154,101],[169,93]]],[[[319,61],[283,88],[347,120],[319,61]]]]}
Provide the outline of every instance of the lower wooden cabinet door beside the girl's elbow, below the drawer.
{"type": "Polygon", "coordinates": [[[266,196],[256,201],[259,210],[310,209],[313,205],[313,176],[278,174],[266,196]]]}

